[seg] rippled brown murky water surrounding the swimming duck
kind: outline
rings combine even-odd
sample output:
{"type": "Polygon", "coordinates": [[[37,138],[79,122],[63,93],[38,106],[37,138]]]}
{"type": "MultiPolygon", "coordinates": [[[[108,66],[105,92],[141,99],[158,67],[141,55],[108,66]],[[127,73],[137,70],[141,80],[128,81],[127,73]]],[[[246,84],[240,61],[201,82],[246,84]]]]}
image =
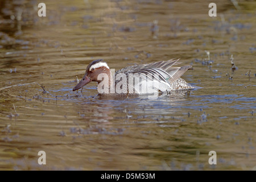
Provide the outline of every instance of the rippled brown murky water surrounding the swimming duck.
{"type": "Polygon", "coordinates": [[[46,17],[38,3],[0,3],[0,169],[256,169],[255,1],[217,1],[217,17],[210,1],[44,1],[46,17]],[[179,57],[201,89],[72,92],[95,59],[120,69],[179,57]]]}

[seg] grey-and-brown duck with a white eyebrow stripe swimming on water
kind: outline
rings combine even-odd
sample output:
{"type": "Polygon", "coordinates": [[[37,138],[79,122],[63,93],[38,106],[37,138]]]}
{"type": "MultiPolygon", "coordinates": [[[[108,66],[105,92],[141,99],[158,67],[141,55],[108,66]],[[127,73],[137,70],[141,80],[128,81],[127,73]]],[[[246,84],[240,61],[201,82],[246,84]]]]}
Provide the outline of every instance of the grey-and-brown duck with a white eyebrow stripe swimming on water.
{"type": "Polygon", "coordinates": [[[141,95],[171,93],[176,90],[195,88],[188,84],[181,76],[192,69],[191,65],[179,66],[180,59],[157,61],[155,63],[130,65],[114,72],[102,60],[93,60],[85,70],[85,75],[73,88],[79,90],[92,81],[98,83],[100,95],[141,95]],[[114,75],[114,76],[113,76],[114,75]]]}

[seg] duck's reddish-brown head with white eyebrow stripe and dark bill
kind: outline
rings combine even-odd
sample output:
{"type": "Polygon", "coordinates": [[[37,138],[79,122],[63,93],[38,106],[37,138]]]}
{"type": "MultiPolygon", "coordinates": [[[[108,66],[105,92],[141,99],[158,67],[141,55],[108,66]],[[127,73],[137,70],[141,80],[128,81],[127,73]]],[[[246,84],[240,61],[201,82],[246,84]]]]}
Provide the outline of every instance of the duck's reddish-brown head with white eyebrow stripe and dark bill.
{"type": "Polygon", "coordinates": [[[110,74],[108,64],[102,59],[92,61],[87,66],[84,77],[82,77],[80,82],[73,88],[73,91],[82,88],[91,81],[101,82],[102,80],[98,80],[98,75],[100,75],[100,73],[110,74]]]}

